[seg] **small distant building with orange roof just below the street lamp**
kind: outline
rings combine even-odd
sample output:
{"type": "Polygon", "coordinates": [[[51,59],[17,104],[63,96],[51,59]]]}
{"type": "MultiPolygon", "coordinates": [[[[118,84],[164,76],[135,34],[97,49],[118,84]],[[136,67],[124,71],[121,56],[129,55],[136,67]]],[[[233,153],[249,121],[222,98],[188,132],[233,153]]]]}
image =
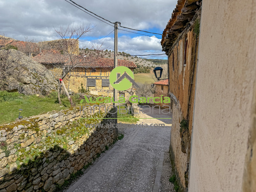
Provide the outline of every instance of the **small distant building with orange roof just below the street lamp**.
{"type": "MultiPolygon", "coordinates": [[[[154,83],[156,88],[155,88],[155,94],[154,97],[168,97],[168,79],[160,80],[158,82],[154,83]]],[[[160,106],[166,105],[167,103],[157,103],[160,106]]],[[[172,108],[172,106],[170,106],[172,108]]]]}

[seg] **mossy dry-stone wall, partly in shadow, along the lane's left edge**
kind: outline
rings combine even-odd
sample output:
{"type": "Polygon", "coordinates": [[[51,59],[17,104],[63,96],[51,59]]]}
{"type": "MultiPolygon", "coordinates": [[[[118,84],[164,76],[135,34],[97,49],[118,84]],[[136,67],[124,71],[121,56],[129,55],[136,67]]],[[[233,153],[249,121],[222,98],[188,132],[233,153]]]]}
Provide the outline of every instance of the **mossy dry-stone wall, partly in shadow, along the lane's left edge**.
{"type": "Polygon", "coordinates": [[[117,137],[114,121],[98,119],[112,116],[98,111],[62,110],[0,126],[0,191],[54,191],[91,163],[117,137]]]}

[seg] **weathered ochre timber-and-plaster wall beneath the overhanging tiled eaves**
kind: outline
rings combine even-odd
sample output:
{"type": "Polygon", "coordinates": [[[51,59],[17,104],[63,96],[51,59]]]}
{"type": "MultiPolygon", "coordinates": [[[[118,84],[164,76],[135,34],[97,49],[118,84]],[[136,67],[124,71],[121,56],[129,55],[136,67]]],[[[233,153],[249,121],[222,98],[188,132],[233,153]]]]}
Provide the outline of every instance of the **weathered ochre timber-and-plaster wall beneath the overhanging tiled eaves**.
{"type": "MultiPolygon", "coordinates": [[[[200,14],[197,17],[200,23],[200,14]]],[[[180,182],[180,188],[188,186],[188,166],[190,157],[190,136],[193,124],[193,106],[197,69],[198,34],[194,24],[184,30],[174,42],[168,54],[169,93],[173,99],[173,123],[170,139],[170,158],[180,182]],[[182,120],[187,121],[182,128],[182,120]]]]}

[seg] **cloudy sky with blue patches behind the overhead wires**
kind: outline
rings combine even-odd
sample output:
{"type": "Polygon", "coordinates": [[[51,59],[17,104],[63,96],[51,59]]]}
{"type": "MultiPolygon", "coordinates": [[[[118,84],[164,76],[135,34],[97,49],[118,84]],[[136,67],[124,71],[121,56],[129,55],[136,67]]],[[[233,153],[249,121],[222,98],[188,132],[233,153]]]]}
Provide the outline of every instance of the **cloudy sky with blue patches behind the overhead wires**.
{"type": "MultiPolygon", "coordinates": [[[[103,50],[114,50],[114,27],[111,26],[113,24],[106,21],[110,25],[103,23],[67,1],[0,0],[0,34],[17,40],[54,40],[59,38],[55,29],[84,24],[93,30],[80,39],[81,48],[98,48],[100,45],[103,50]]],[[[120,22],[124,27],[159,34],[165,29],[177,4],[177,0],[73,1],[110,22],[120,22]]],[[[161,38],[161,35],[118,27],[118,52],[131,55],[162,54],[164,52],[160,45],[161,38]]],[[[167,59],[167,56],[144,58],[167,59]]]]}

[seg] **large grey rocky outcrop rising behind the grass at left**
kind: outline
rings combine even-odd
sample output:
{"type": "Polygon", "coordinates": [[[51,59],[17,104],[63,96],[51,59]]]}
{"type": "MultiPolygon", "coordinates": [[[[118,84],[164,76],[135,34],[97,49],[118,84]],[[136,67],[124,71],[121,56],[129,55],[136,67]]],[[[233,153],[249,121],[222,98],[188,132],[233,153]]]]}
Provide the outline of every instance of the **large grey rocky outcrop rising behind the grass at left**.
{"type": "Polygon", "coordinates": [[[9,92],[47,95],[57,88],[57,81],[45,66],[17,50],[0,50],[4,75],[0,88],[9,92]]]}

